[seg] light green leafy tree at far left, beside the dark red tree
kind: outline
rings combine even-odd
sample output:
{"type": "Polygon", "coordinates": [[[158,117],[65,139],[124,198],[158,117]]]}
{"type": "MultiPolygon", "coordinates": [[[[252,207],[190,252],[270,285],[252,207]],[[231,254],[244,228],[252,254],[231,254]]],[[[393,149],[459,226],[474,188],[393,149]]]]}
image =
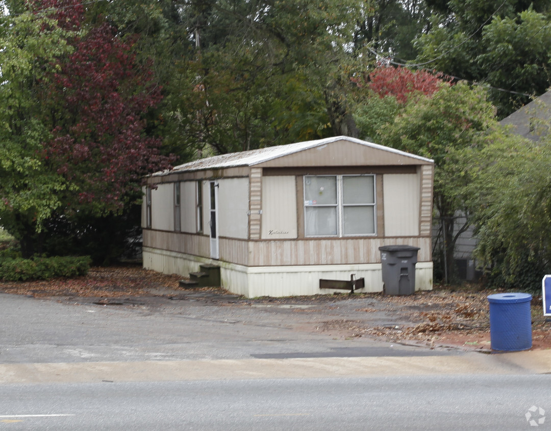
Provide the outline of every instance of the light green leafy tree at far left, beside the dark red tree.
{"type": "Polygon", "coordinates": [[[51,128],[41,121],[41,88],[57,58],[71,54],[70,34],[30,11],[0,21],[0,221],[26,255],[34,253],[44,222],[63,205],[59,194],[71,188],[42,157],[51,128]]]}

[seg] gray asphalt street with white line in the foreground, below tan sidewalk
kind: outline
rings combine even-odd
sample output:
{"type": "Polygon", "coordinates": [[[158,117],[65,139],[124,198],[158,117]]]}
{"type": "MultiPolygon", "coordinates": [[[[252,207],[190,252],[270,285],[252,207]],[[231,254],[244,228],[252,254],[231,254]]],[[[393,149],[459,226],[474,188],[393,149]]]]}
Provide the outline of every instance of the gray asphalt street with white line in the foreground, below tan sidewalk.
{"type": "Polygon", "coordinates": [[[4,385],[0,429],[549,429],[550,384],[459,375],[4,385]]]}

